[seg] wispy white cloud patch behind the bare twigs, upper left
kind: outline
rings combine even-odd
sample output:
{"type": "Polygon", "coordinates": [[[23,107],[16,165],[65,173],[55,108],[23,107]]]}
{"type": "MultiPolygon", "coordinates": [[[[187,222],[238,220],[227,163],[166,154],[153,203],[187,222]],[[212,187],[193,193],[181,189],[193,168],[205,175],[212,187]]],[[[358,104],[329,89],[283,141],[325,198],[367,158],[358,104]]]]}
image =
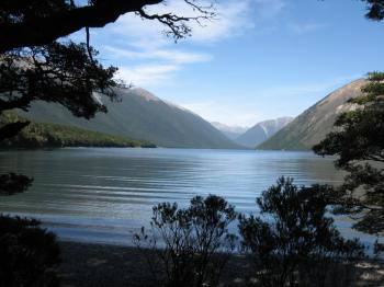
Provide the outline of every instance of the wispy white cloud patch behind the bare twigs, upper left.
{"type": "MultiPolygon", "coordinates": [[[[215,44],[228,37],[245,33],[252,28],[250,13],[253,0],[226,0],[216,4],[217,16],[201,22],[190,21],[192,36],[187,43],[174,47],[172,39],[167,38],[165,26],[156,21],[143,20],[133,13],[121,16],[115,23],[103,30],[93,30],[92,37],[108,55],[110,62],[121,71],[117,77],[136,85],[154,85],[162,80],[171,79],[189,65],[197,65],[213,60],[213,56],[203,51],[206,44],[215,44]],[[191,51],[193,50],[193,51],[191,51]]],[[[201,1],[204,4],[204,0],[201,1]]],[[[195,16],[193,10],[184,1],[169,0],[166,4],[150,5],[147,13],[172,12],[180,16],[195,16]]]]}

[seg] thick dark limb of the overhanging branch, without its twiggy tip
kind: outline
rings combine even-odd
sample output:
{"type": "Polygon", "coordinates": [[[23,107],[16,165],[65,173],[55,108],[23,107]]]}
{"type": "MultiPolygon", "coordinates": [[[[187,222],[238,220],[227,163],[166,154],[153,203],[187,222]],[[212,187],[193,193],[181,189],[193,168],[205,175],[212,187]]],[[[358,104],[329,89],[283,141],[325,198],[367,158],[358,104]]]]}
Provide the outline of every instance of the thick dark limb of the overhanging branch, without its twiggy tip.
{"type": "Polygon", "coordinates": [[[61,10],[45,18],[34,18],[19,23],[0,24],[0,53],[25,46],[49,44],[83,27],[103,27],[122,14],[161,0],[102,0],[93,4],[61,10]]]}

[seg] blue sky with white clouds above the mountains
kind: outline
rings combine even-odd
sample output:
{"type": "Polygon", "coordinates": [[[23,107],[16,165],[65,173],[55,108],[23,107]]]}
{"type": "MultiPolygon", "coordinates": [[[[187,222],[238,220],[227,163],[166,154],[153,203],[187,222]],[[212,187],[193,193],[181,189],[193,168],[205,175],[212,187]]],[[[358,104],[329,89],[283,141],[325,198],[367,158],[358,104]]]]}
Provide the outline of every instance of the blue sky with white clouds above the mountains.
{"type": "MultiPolygon", "coordinates": [[[[384,21],[360,0],[216,0],[216,18],[167,38],[155,21],[125,14],[91,30],[99,60],[117,78],[208,122],[252,126],[297,116],[369,71],[384,70],[384,21]]],[[[182,0],[150,7],[191,16],[182,0]]],[[[84,32],[74,36],[86,39],[84,32]]]]}

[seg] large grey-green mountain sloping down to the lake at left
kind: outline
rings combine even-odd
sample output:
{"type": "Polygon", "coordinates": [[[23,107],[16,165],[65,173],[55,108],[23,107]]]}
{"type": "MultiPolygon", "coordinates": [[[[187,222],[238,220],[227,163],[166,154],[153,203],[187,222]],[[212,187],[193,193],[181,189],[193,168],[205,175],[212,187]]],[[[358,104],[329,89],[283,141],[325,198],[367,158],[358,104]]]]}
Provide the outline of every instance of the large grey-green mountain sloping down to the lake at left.
{"type": "Polygon", "coordinates": [[[116,89],[121,101],[99,96],[108,113],[87,120],[72,116],[58,104],[36,102],[21,116],[37,123],[54,123],[99,133],[148,140],[158,146],[180,148],[237,148],[221,131],[196,114],[165,102],[148,91],[116,89]]]}

